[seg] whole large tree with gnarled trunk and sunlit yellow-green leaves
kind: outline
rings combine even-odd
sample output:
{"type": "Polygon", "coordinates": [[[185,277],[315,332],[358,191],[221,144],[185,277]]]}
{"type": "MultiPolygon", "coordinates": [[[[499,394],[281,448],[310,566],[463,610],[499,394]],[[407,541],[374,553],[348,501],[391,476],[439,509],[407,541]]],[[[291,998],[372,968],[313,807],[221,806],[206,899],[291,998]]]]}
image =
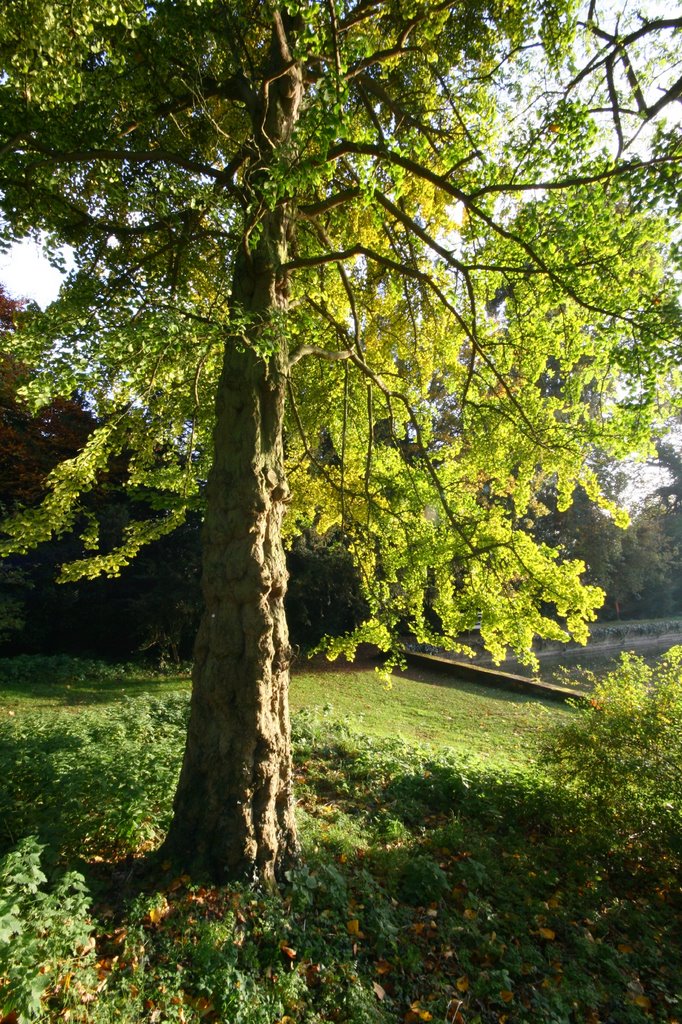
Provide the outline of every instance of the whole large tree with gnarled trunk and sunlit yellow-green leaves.
{"type": "Polygon", "coordinates": [[[585,455],[646,437],[680,323],[682,18],[609,7],[5,4],[6,233],[76,260],[22,334],[31,395],[82,387],[102,424],[7,548],[125,447],[166,505],[65,570],[116,572],[208,476],[166,843],[193,869],[271,882],[296,855],[288,506],[360,565],[347,649],[433,615],[452,645],[480,616],[497,655],[586,634],[600,595],[526,513],[543,476],[599,498],[585,455]]]}

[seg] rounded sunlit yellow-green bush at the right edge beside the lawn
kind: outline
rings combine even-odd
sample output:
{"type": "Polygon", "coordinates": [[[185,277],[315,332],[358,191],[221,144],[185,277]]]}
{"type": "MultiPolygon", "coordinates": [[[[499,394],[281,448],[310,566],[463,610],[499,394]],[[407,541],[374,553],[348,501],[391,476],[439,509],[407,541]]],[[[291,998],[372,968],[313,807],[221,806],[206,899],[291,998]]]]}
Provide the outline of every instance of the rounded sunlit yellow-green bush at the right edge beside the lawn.
{"type": "Polygon", "coordinates": [[[552,726],[541,762],[580,805],[591,835],[631,855],[682,855],[682,646],[654,667],[623,654],[566,725],[552,726]]]}

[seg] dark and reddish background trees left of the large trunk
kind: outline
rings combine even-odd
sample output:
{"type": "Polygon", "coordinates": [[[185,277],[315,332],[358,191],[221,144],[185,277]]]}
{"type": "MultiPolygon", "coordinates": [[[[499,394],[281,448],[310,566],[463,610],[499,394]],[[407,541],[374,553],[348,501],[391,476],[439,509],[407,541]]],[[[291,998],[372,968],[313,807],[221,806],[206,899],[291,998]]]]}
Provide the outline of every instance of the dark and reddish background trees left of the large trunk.
{"type": "MultiPolygon", "coordinates": [[[[37,507],[45,478],[87,444],[97,421],[84,396],[56,397],[37,412],[22,397],[32,378],[10,354],[24,304],[0,288],[0,505],[5,514],[37,507]]],[[[0,574],[0,643],[5,652],[68,651],[188,657],[199,608],[199,525],[189,516],[172,537],[145,550],[123,578],[55,583],[59,567],[83,558],[83,536],[114,549],[131,521],[150,516],[150,496],[126,489],[125,459],[102,472],[80,502],[75,528],[38,552],[5,559],[0,574]],[[83,535],[83,536],[79,536],[83,535]]]]}

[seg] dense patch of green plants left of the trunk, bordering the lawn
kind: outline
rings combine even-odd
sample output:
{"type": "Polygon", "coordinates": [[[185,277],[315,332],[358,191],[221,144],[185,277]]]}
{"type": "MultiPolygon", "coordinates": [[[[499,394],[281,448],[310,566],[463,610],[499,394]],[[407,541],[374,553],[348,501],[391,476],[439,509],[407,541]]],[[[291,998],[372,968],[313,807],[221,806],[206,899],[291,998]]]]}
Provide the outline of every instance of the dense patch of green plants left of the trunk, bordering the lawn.
{"type": "Polygon", "coordinates": [[[186,713],[180,693],[0,719],[0,853],[32,834],[71,858],[156,844],[170,816],[186,713]]]}

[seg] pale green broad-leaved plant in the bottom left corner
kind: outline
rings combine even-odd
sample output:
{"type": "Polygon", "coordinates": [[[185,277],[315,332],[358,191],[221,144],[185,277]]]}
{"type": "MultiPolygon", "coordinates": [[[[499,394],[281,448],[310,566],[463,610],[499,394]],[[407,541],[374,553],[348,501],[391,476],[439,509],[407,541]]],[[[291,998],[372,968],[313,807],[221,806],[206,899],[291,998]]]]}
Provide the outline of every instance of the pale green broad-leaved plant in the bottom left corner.
{"type": "Polygon", "coordinates": [[[29,837],[0,861],[0,1018],[35,1020],[50,998],[68,1007],[94,987],[88,889],[77,871],[48,886],[43,850],[29,837]]]}

